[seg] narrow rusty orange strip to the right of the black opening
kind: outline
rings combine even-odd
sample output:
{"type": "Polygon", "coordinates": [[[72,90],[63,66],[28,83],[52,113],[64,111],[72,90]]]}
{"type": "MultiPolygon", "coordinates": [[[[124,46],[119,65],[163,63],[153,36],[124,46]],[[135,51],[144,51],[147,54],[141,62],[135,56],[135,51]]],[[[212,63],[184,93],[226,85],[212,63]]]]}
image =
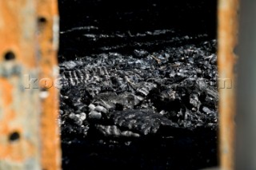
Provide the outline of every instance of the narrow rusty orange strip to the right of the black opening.
{"type": "Polygon", "coordinates": [[[219,89],[219,161],[222,170],[234,169],[234,115],[238,0],[218,0],[218,75],[232,81],[231,88],[219,89]]]}

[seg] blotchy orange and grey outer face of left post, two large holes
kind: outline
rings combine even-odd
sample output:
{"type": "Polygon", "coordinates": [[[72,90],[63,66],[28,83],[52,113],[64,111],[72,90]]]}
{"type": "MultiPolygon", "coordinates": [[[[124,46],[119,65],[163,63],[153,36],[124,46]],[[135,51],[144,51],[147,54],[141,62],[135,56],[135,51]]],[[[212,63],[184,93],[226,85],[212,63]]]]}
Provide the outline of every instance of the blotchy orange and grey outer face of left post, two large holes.
{"type": "Polygon", "coordinates": [[[36,2],[0,0],[0,169],[39,170],[36,2]],[[29,86],[26,86],[29,85],[29,86]]]}

